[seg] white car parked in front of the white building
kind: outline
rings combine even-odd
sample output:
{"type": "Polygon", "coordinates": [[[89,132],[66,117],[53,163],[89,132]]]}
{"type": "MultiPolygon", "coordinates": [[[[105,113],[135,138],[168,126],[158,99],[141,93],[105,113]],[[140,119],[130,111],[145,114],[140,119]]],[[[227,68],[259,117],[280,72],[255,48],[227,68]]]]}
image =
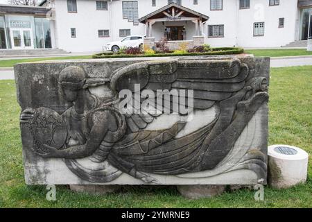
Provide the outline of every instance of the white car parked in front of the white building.
{"type": "Polygon", "coordinates": [[[120,41],[116,42],[109,42],[105,46],[105,50],[107,51],[113,51],[117,52],[119,49],[122,49],[123,47],[141,47],[143,46],[143,37],[140,35],[130,35],[127,37],[124,37],[120,41]]]}

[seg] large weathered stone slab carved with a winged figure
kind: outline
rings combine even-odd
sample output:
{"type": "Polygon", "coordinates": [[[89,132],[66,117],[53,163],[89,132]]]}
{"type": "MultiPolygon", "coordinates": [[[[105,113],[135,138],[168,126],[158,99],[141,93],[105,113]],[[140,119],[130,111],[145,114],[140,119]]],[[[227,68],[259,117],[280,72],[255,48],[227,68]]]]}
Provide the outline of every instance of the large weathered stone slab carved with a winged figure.
{"type": "Polygon", "coordinates": [[[15,77],[27,184],[266,183],[268,58],[47,61],[15,77]]]}

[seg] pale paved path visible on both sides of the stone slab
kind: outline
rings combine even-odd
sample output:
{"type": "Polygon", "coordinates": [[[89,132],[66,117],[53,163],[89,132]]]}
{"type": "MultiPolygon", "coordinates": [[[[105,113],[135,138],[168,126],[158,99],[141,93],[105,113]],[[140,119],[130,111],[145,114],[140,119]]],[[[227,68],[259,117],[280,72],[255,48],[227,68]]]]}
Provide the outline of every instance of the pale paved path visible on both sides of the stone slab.
{"type": "MultiPolygon", "coordinates": [[[[289,58],[271,58],[271,67],[293,67],[298,65],[312,65],[312,56],[294,56],[289,58]]],[[[0,68],[0,80],[14,79],[13,68],[0,68]]]]}

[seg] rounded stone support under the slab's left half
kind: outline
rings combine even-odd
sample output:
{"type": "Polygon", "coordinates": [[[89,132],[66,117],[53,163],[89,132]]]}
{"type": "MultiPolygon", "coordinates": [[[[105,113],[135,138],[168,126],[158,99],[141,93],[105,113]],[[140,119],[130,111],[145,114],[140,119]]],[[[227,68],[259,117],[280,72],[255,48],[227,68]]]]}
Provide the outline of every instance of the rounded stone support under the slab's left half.
{"type": "Polygon", "coordinates": [[[72,191],[86,194],[110,194],[121,189],[120,185],[69,185],[72,191]]]}

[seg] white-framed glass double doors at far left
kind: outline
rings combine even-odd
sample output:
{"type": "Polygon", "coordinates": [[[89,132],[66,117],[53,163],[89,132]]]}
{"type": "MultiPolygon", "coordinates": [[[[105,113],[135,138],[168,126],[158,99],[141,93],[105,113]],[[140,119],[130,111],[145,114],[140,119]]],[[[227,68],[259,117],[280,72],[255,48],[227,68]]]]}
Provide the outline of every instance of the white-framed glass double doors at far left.
{"type": "Polygon", "coordinates": [[[33,35],[30,28],[11,28],[12,49],[33,49],[33,35]]]}

